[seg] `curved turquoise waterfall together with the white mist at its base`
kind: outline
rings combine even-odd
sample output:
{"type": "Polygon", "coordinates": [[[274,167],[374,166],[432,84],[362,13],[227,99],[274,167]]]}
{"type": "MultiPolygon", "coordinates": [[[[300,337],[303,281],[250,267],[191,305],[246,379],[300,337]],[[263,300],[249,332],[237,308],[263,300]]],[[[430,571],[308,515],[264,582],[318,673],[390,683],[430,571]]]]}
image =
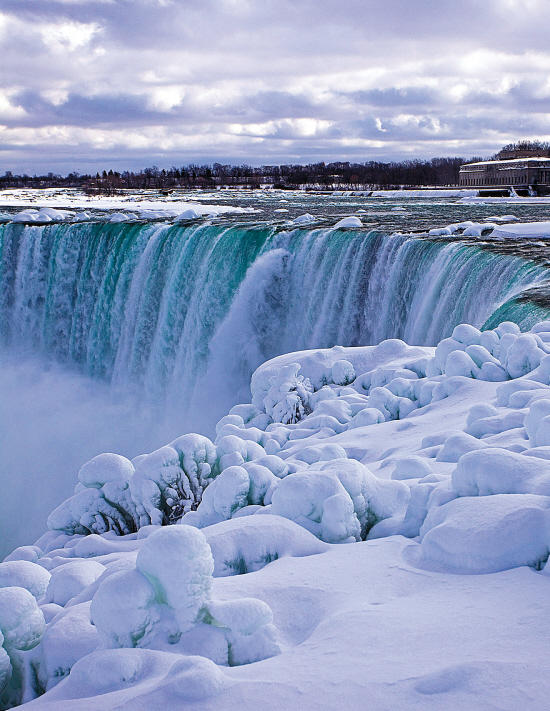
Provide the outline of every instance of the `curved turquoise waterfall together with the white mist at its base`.
{"type": "Polygon", "coordinates": [[[524,298],[548,281],[533,261],[367,229],[9,223],[0,250],[6,552],[40,534],[88,459],[212,433],[278,354],[434,345],[496,312],[523,328],[547,313],[524,298]]]}

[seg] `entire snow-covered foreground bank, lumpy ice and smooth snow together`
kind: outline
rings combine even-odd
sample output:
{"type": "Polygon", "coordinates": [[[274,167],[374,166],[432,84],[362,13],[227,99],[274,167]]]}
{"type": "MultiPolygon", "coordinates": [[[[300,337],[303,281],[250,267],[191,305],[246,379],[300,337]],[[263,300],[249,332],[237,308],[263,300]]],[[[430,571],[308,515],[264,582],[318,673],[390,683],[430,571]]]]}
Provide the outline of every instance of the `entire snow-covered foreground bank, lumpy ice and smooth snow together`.
{"type": "Polygon", "coordinates": [[[92,459],[0,564],[0,707],[546,709],[550,322],[251,390],[215,442],[92,459]]]}

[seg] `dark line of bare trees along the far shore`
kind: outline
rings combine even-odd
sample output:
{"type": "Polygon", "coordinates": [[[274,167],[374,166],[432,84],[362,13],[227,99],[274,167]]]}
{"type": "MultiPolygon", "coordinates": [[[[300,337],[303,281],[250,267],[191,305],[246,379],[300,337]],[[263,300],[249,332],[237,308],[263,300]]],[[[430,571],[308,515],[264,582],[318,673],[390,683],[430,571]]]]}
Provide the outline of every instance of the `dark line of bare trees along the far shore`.
{"type": "Polygon", "coordinates": [[[88,192],[114,193],[124,189],[164,190],[176,188],[215,188],[273,186],[282,189],[378,190],[419,186],[458,185],[460,166],[471,158],[432,158],[384,163],[333,162],[308,165],[196,165],[170,169],[152,166],[140,171],[103,170],[94,174],[69,173],[67,176],[0,176],[0,189],[7,188],[83,188],[88,192]]]}

